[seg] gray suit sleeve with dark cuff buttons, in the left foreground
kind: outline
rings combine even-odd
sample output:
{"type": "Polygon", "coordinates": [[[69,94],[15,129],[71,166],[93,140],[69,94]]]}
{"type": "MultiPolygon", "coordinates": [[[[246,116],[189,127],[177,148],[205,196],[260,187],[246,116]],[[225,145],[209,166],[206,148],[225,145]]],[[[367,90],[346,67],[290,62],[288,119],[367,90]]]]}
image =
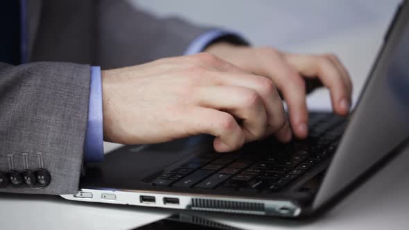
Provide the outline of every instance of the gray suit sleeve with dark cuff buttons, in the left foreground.
{"type": "Polygon", "coordinates": [[[87,128],[88,65],[0,63],[0,171],[43,168],[44,188],[1,188],[0,192],[72,194],[78,191],[87,128]],[[24,163],[24,154],[27,163],[24,163]],[[9,165],[12,157],[12,165],[9,165]]]}

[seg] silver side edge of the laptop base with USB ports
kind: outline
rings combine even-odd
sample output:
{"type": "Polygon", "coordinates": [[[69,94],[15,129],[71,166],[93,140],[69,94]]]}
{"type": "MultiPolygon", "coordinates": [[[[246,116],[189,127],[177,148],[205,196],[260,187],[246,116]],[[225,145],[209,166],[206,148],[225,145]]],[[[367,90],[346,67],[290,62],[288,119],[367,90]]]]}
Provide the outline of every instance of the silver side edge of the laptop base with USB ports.
{"type": "Polygon", "coordinates": [[[177,194],[157,191],[120,191],[109,188],[82,188],[76,195],[61,195],[67,200],[150,206],[166,209],[216,211],[296,218],[301,206],[290,200],[263,200],[221,195],[177,194]]]}

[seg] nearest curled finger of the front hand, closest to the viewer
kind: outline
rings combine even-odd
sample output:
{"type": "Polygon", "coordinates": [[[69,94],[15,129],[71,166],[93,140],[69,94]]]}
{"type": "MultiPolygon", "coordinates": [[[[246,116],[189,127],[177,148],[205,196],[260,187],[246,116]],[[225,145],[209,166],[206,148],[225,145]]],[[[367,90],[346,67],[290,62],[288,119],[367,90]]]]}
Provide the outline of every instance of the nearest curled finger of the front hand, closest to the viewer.
{"type": "Polygon", "coordinates": [[[214,139],[216,151],[230,152],[244,145],[245,134],[231,114],[205,107],[194,107],[189,109],[187,114],[189,134],[216,136],[214,139]]]}

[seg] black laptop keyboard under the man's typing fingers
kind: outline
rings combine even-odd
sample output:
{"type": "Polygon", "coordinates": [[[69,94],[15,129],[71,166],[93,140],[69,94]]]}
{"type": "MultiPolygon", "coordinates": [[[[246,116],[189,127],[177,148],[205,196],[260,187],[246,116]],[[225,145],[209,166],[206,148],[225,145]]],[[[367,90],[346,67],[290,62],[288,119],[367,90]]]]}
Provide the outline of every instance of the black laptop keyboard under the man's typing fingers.
{"type": "Polygon", "coordinates": [[[255,141],[230,153],[201,154],[153,181],[155,186],[275,193],[286,188],[335,152],[346,118],[331,113],[309,114],[305,140],[255,141]]]}

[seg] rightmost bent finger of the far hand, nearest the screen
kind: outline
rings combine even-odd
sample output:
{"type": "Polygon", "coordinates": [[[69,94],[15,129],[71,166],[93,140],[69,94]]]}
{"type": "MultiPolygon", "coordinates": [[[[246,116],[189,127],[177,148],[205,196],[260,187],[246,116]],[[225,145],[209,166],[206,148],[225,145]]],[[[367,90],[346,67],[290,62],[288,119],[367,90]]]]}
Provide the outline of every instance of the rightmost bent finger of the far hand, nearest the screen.
{"type": "Polygon", "coordinates": [[[349,88],[340,72],[328,58],[291,54],[287,55],[287,60],[303,76],[320,78],[322,84],[330,91],[334,111],[340,115],[348,114],[351,101],[349,88]]]}

